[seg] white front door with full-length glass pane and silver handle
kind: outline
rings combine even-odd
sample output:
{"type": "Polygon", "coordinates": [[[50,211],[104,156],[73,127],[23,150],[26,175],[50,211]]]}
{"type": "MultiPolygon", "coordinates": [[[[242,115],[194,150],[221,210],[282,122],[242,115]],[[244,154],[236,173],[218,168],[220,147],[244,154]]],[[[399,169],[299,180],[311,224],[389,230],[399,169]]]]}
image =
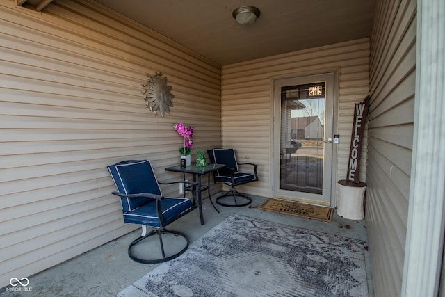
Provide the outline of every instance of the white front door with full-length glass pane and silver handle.
{"type": "Polygon", "coordinates": [[[275,198],[331,205],[333,115],[333,72],[275,80],[275,198]]]}

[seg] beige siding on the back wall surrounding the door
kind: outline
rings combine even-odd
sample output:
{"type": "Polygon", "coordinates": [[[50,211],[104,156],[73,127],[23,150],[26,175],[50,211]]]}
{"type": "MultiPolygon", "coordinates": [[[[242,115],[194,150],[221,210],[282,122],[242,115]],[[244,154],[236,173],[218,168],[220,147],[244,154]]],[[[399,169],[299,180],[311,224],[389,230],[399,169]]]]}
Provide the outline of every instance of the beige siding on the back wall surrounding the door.
{"type": "MultiPolygon", "coordinates": [[[[259,182],[242,191],[272,196],[273,79],[337,72],[333,195],[346,177],[355,103],[369,93],[369,38],[341,42],[223,67],[223,145],[234,147],[240,162],[259,164],[259,182]]],[[[366,181],[366,142],[360,177],[366,181]]]]}

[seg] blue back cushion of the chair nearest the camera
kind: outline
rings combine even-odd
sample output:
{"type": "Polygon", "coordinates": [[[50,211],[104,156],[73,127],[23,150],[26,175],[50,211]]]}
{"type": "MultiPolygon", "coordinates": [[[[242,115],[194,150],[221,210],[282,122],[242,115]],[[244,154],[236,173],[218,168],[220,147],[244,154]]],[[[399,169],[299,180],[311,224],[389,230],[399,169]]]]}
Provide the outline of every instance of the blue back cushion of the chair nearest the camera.
{"type": "MultiPolygon", "coordinates": [[[[108,170],[119,193],[162,195],[149,160],[122,161],[108,166],[108,170]]],[[[120,198],[124,212],[133,211],[152,200],[152,198],[120,198]]]]}

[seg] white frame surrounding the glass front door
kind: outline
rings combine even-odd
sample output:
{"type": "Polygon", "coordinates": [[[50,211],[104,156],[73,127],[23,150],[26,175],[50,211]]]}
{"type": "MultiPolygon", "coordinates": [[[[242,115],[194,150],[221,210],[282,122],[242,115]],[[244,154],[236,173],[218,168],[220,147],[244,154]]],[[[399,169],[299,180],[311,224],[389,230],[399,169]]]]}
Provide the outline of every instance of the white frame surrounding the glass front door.
{"type": "MultiPolygon", "coordinates": [[[[275,118],[275,81],[278,79],[291,79],[295,77],[308,77],[312,75],[317,74],[326,74],[326,73],[334,73],[334,102],[332,104],[333,106],[333,113],[332,113],[332,135],[338,134],[338,118],[339,118],[339,73],[340,73],[340,67],[328,67],[328,68],[321,68],[316,71],[307,71],[307,72],[291,72],[289,74],[282,74],[277,75],[274,77],[270,77],[270,112],[271,112],[271,121],[270,121],[270,162],[269,162],[269,168],[270,168],[270,197],[274,197],[277,199],[280,199],[280,197],[277,197],[274,195],[274,157],[275,154],[278,154],[280,152],[275,152],[273,150],[273,144],[274,144],[274,127],[275,127],[275,121],[280,120],[275,118]]],[[[338,154],[338,145],[332,143],[332,166],[331,166],[331,198],[330,198],[330,205],[322,205],[322,206],[329,206],[329,207],[336,207],[337,206],[337,197],[338,197],[338,187],[337,187],[337,154],[338,154]]],[[[302,200],[302,202],[307,202],[307,200],[302,200]]]]}

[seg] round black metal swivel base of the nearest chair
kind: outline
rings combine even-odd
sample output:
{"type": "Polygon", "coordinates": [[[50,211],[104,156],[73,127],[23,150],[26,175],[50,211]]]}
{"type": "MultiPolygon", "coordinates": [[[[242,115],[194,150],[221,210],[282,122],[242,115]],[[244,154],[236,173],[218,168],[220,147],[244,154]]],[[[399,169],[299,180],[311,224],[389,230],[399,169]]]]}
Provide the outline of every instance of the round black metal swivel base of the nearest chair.
{"type": "MultiPolygon", "coordinates": [[[[152,232],[149,232],[149,234],[147,234],[146,236],[140,236],[137,239],[135,239],[133,242],[131,242],[128,247],[128,255],[134,262],[143,263],[143,264],[157,264],[157,263],[167,262],[167,261],[170,261],[171,259],[175,259],[176,257],[179,257],[179,255],[182,255],[187,250],[187,248],[188,248],[188,239],[185,234],[182,234],[177,231],[166,230],[166,229],[153,230],[152,232]],[[162,257],[161,258],[155,257],[154,259],[144,259],[143,257],[136,256],[135,253],[133,252],[133,248],[138,243],[143,241],[143,239],[148,239],[150,236],[156,235],[156,234],[158,234],[158,236],[159,236],[159,245],[161,248],[162,257]],[[165,256],[162,234],[174,234],[175,237],[181,237],[181,238],[185,239],[186,244],[185,244],[184,248],[182,248],[178,252],[175,252],[173,255],[165,256]]],[[[150,252],[150,251],[148,250],[147,252],[150,252]]]]}

